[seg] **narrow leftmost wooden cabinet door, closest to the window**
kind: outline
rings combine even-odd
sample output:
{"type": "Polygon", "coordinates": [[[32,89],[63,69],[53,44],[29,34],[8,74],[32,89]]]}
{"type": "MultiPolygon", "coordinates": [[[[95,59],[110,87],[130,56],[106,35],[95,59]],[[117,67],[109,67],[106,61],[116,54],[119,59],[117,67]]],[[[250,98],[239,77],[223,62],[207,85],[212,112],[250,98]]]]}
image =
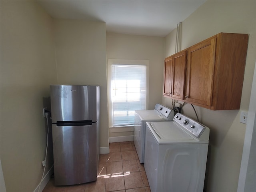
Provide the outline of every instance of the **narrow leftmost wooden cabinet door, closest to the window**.
{"type": "Polygon", "coordinates": [[[172,89],[172,56],[164,60],[164,96],[170,97],[172,89]]]}

